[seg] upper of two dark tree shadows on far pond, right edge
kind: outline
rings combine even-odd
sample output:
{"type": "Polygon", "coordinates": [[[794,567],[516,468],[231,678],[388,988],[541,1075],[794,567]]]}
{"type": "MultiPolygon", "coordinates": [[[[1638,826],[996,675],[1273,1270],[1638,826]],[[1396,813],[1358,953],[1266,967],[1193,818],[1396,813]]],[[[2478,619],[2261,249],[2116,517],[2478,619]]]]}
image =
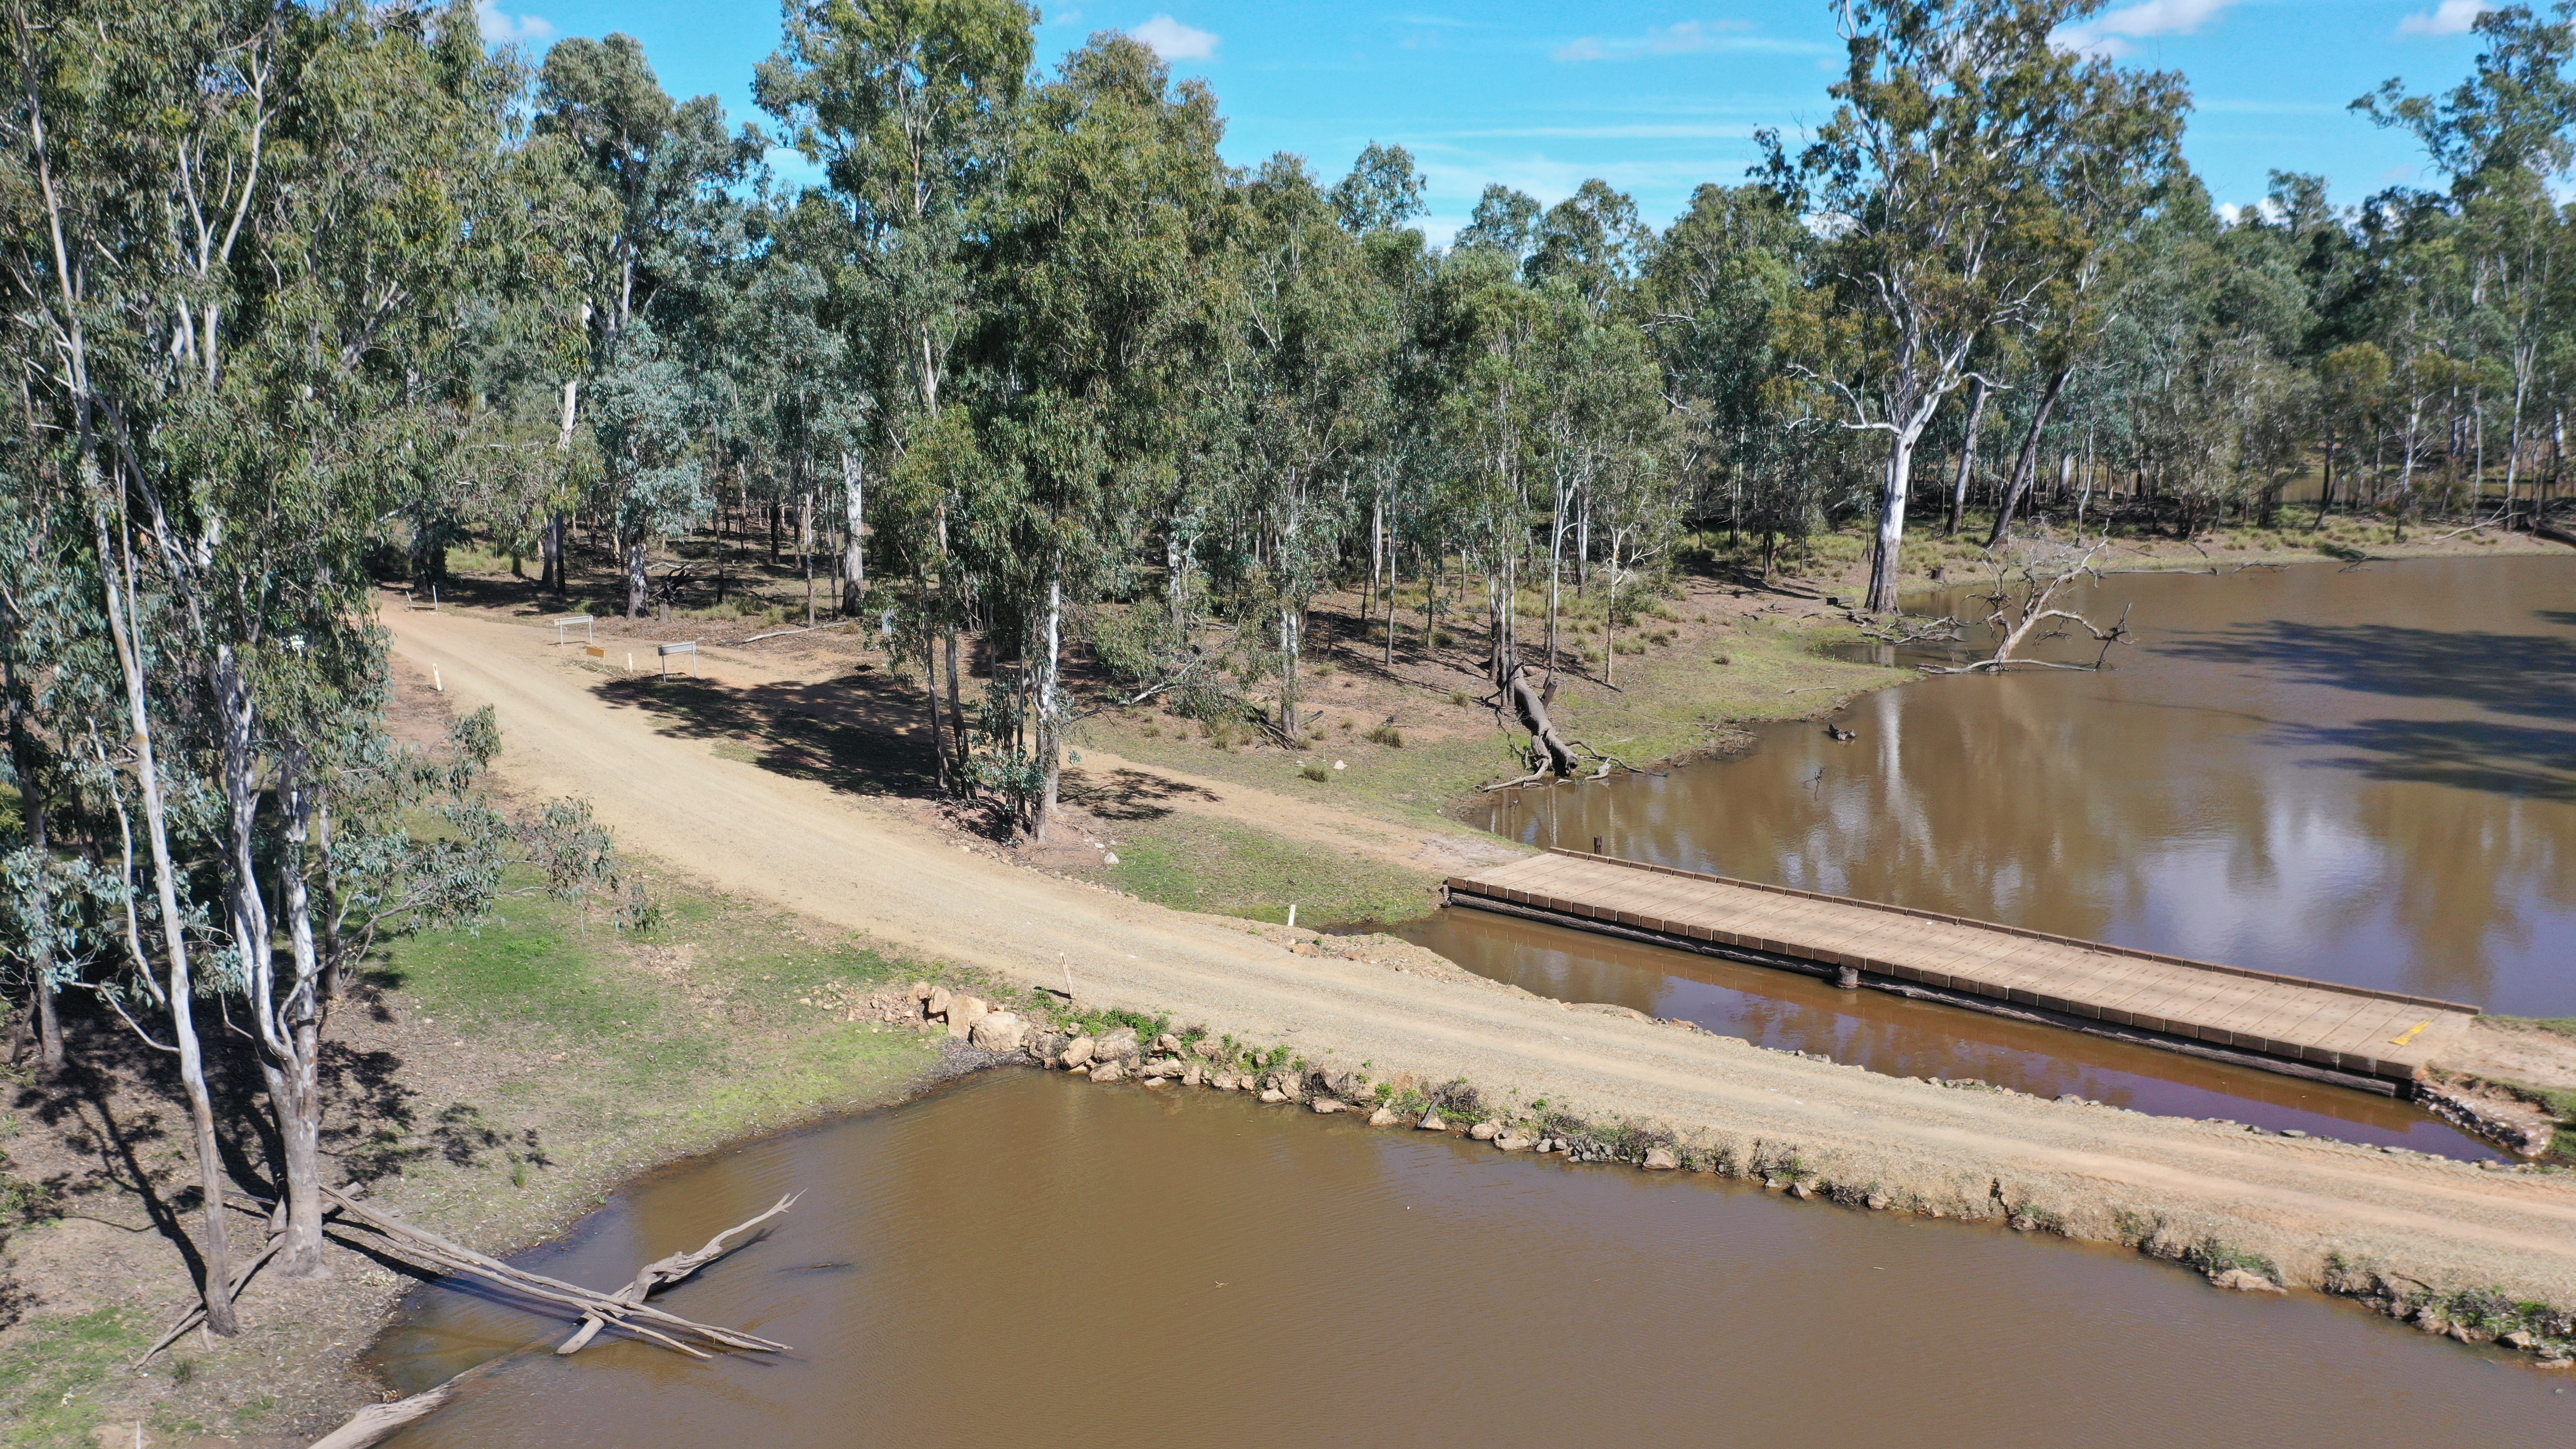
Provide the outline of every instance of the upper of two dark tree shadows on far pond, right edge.
{"type": "Polygon", "coordinates": [[[2496,714],[2576,719],[2576,650],[2550,634],[2267,619],[2179,637],[2156,652],[2262,665],[2298,683],[2391,699],[2455,699],[2496,714]]]}

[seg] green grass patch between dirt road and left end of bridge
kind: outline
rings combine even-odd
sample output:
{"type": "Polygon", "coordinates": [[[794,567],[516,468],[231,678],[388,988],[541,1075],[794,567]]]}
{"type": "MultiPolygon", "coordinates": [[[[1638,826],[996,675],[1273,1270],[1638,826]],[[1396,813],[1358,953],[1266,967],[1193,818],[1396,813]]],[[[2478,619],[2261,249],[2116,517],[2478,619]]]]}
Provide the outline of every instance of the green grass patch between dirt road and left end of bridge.
{"type": "Polygon", "coordinates": [[[1409,920],[1432,905],[1437,877],[1285,841],[1267,830],[1170,815],[1126,825],[1110,879],[1175,910],[1247,920],[1409,920]]]}

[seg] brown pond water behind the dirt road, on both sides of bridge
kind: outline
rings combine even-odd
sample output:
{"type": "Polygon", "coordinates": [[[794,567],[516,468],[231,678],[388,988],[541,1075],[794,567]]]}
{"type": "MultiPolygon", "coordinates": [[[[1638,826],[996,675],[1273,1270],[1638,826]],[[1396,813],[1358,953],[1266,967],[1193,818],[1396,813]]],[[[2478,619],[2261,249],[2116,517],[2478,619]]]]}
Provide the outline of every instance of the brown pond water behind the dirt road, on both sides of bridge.
{"type": "MultiPolygon", "coordinates": [[[[1909,606],[1981,608],[1963,590],[1909,606]]],[[[1510,792],[1473,820],[1538,846],[1600,838],[1638,861],[2576,1016],[2576,559],[2115,575],[2076,606],[2130,611],[2138,645],[2112,670],[1924,678],[1842,712],[1852,743],[1759,727],[1749,755],[1510,792]]],[[[1476,910],[1401,931],[1535,993],[1883,1073],[2494,1155],[2367,1093],[1762,967],[1476,910]]]]}

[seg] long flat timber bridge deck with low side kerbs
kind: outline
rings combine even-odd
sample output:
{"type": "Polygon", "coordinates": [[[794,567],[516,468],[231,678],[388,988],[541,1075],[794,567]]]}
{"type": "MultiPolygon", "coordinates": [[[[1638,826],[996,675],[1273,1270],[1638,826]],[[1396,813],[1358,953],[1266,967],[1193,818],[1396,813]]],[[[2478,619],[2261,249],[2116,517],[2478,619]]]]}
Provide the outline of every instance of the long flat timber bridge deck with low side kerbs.
{"type": "Polygon", "coordinates": [[[2391,1096],[2478,1016],[2455,1000],[1582,851],[1450,877],[1448,902],[2391,1096]]]}

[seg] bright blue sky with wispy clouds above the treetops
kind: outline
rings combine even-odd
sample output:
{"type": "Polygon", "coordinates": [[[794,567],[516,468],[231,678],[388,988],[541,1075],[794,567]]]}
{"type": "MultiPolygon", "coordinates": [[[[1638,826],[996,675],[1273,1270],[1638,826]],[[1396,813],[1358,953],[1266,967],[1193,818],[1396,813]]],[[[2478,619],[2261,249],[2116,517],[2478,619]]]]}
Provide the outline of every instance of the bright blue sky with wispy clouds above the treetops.
{"type": "MultiPolygon", "coordinates": [[[[484,34],[544,49],[626,31],[675,95],[714,90],[757,121],[752,64],[778,44],[778,10],[690,0],[482,0],[484,34]]],[[[2269,170],[2321,173],[2336,201],[2434,183],[2403,134],[2344,106],[2398,75],[2450,88],[2468,75],[2481,0],[2133,0],[2076,44],[2179,70],[2197,111],[2184,150],[2223,204],[2259,201],[2269,170]]],[[[1038,57],[1092,31],[1131,31],[1226,113],[1226,160],[1306,155],[1327,180],[1370,139],[1399,142],[1430,178],[1427,229],[1445,237],[1486,180],[1540,201],[1600,175],[1664,224],[1692,186],[1736,183],[1754,129],[1829,113],[1842,46],[1824,0],[1698,5],[1229,5],[1082,0],[1046,8],[1038,57]]],[[[786,157],[793,160],[793,157],[786,157]]]]}

